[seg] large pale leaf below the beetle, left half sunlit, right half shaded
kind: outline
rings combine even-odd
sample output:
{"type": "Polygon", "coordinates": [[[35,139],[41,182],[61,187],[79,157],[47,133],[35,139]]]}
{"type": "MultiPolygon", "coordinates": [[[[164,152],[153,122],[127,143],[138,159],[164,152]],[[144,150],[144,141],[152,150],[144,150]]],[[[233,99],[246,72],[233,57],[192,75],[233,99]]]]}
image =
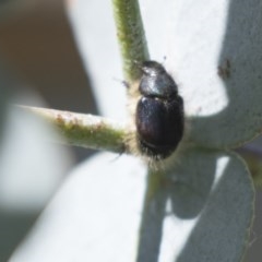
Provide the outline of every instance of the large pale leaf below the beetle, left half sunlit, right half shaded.
{"type": "Polygon", "coordinates": [[[76,168],[11,261],[240,261],[253,188],[236,155],[184,153],[144,210],[145,168],[116,157],[76,168]]]}

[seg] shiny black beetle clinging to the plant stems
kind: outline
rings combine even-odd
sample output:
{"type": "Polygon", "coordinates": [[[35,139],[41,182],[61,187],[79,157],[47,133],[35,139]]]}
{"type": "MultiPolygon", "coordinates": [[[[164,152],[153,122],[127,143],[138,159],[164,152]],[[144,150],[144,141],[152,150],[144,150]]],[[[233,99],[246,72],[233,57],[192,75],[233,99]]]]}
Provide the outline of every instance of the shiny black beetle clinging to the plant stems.
{"type": "Polygon", "coordinates": [[[155,159],[169,156],[183,135],[183,100],[177,84],[155,61],[142,63],[136,112],[136,140],[142,154],[155,159]]]}

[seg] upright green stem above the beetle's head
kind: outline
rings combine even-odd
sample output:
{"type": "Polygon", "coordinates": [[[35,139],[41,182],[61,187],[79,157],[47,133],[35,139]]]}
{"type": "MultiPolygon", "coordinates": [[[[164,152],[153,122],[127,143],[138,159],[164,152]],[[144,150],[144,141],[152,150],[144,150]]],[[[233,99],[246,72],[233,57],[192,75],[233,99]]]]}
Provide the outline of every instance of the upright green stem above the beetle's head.
{"type": "Polygon", "coordinates": [[[148,60],[139,3],[136,0],[112,0],[112,7],[124,78],[132,83],[141,75],[136,63],[148,60]]]}

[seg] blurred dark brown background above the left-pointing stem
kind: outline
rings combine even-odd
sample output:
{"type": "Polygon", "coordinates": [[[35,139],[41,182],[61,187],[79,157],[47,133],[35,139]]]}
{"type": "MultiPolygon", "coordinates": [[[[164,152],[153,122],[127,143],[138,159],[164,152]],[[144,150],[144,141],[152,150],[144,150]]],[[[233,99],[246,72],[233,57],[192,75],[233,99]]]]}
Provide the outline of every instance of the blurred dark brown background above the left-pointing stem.
{"type": "MultiPolygon", "coordinates": [[[[63,0],[0,1],[0,57],[47,107],[96,114],[63,0]]],[[[73,147],[75,159],[90,152],[73,147]]]]}

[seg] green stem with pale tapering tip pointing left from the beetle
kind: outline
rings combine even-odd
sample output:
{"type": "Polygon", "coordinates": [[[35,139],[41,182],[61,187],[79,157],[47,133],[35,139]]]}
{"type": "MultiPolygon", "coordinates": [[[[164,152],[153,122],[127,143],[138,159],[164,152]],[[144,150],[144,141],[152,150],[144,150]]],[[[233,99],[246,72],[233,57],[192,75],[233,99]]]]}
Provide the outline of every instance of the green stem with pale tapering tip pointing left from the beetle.
{"type": "Polygon", "coordinates": [[[92,115],[38,107],[20,106],[20,108],[53,124],[66,138],[66,140],[58,138],[56,142],[116,153],[126,152],[123,124],[92,115]]]}

